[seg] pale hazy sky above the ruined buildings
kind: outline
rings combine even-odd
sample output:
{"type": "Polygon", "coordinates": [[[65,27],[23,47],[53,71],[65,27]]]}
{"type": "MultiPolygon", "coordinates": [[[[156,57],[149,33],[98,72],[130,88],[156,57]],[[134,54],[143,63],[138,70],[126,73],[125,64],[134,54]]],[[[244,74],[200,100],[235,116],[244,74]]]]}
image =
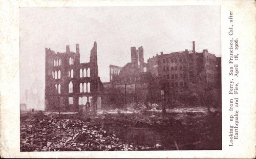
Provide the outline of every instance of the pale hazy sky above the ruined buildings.
{"type": "Polygon", "coordinates": [[[102,82],[110,64],[131,61],[131,47],[143,46],[145,62],[161,51],[192,50],[192,41],[197,52],[221,56],[220,6],[20,8],[19,20],[20,101],[27,89],[29,107],[44,108],[45,48],[65,52],[68,44],[75,52],[79,43],[81,62],[89,62],[97,41],[102,82]]]}

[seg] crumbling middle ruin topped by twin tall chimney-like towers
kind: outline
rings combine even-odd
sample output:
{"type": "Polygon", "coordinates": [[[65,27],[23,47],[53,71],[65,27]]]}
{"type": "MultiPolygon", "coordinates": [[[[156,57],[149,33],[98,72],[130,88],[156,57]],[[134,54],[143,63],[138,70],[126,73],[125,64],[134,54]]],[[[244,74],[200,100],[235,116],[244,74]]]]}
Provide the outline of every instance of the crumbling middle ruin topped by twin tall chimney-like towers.
{"type": "Polygon", "coordinates": [[[143,47],[131,47],[131,62],[123,67],[110,65],[110,82],[104,85],[104,104],[117,105],[144,102],[147,96],[146,63],[143,47]]]}

